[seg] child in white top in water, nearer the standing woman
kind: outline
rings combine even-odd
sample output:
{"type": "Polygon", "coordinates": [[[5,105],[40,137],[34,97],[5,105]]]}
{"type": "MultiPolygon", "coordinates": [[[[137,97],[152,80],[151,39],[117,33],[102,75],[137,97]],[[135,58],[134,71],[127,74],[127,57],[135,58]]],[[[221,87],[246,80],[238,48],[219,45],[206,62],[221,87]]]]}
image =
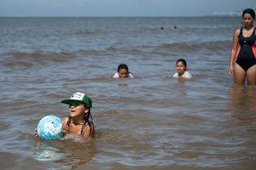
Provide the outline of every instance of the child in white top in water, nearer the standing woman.
{"type": "Polygon", "coordinates": [[[187,71],[187,62],[183,58],[176,61],[176,70],[176,74],[172,75],[173,78],[192,78],[192,75],[187,71]]]}

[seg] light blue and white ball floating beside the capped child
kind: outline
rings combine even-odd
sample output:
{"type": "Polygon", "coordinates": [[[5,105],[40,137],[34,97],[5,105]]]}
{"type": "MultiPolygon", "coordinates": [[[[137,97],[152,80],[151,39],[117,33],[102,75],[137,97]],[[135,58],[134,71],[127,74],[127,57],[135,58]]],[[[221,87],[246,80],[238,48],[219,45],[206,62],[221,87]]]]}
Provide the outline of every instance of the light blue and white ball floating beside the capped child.
{"type": "Polygon", "coordinates": [[[62,138],[63,132],[61,119],[54,115],[48,115],[41,118],[37,125],[37,133],[40,138],[46,140],[62,138]]]}

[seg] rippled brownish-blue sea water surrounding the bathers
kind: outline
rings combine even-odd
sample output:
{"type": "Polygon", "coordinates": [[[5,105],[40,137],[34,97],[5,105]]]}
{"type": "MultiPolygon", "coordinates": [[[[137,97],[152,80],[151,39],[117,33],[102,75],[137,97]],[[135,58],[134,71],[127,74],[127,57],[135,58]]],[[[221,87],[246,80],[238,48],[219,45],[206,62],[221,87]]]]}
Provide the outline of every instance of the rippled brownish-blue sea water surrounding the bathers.
{"type": "Polygon", "coordinates": [[[256,87],[228,76],[240,22],[0,18],[1,169],[256,169],[256,87]],[[193,79],[171,78],[180,57],[193,79]],[[111,78],[120,63],[134,79],[111,78]],[[35,137],[76,91],[93,99],[96,137],[35,137]]]}

